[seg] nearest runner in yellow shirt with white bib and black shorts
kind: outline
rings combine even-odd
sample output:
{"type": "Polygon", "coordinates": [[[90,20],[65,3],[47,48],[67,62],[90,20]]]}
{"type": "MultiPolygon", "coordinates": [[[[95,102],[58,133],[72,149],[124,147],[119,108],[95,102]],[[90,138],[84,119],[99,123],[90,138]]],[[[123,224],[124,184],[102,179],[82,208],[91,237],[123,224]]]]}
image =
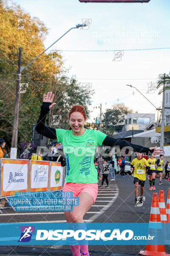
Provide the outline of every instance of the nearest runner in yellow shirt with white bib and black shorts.
{"type": "Polygon", "coordinates": [[[139,204],[142,204],[143,193],[144,193],[144,182],[146,180],[146,167],[150,169],[150,165],[147,163],[147,160],[142,157],[142,153],[136,153],[137,158],[134,158],[130,163],[131,171],[133,171],[133,183],[135,184],[135,203],[137,203],[138,188],[140,189],[140,198],[139,204]]]}

